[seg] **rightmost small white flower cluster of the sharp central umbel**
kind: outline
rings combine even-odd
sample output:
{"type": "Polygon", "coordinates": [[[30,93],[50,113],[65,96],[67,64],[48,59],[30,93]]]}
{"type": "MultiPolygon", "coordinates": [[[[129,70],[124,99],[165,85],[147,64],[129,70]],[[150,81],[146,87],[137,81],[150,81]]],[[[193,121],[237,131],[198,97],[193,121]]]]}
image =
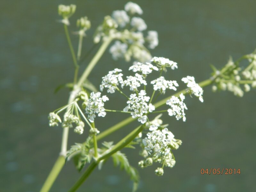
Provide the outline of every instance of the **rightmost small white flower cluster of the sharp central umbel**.
{"type": "Polygon", "coordinates": [[[188,93],[189,94],[194,94],[196,97],[199,98],[199,100],[201,102],[204,102],[203,99],[203,89],[202,87],[200,87],[196,82],[195,82],[195,78],[192,76],[187,76],[187,77],[183,77],[181,79],[181,81],[183,81],[184,83],[187,84],[188,89],[188,93]]]}

